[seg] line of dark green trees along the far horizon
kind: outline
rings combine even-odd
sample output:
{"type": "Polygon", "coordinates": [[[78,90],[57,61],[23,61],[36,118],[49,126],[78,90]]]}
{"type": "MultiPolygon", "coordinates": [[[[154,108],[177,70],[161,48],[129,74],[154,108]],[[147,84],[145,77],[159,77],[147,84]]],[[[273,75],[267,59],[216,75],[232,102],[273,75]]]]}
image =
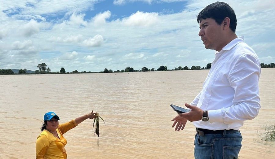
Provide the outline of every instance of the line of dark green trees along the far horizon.
{"type": "MultiPolygon", "coordinates": [[[[100,72],[91,72],[91,71],[82,71],[82,72],[79,72],[77,70],[74,70],[72,72],[66,72],[65,68],[64,67],[61,67],[60,68],[60,71],[59,72],[51,72],[51,69],[48,67],[47,68],[47,65],[46,63],[42,63],[42,64],[39,64],[37,65],[37,68],[39,68],[39,70],[35,70],[34,73],[28,73],[27,72],[27,69],[24,68],[24,69],[20,69],[18,71],[18,74],[70,74],[70,73],[116,73],[116,72],[154,72],[154,71],[177,71],[177,70],[201,70],[201,69],[210,69],[211,68],[211,64],[212,63],[208,63],[206,65],[206,67],[203,67],[201,68],[200,66],[192,66],[191,68],[185,66],[185,67],[181,67],[181,66],[178,66],[178,68],[174,68],[174,69],[167,69],[166,66],[163,66],[161,65],[158,69],[155,69],[155,68],[151,68],[151,69],[148,69],[147,67],[143,67],[139,70],[134,70],[134,68],[132,67],[126,67],[125,69],[122,69],[122,70],[116,70],[116,71],[113,71],[112,69],[107,69],[105,68],[104,71],[100,71],[100,72]]],[[[261,68],[275,68],[275,63],[270,63],[270,64],[264,64],[264,63],[261,63],[261,68]]],[[[0,69],[0,75],[11,75],[11,74],[14,74],[13,70],[12,69],[0,69]]]]}

